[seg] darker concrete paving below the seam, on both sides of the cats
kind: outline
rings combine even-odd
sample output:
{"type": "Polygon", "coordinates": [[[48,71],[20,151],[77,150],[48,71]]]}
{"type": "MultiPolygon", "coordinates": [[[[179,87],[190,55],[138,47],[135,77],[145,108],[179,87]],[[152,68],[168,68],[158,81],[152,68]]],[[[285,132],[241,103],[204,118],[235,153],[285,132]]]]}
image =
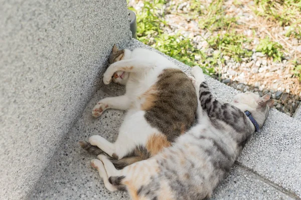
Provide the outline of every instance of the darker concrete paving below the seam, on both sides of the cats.
{"type": "MultiPolygon", "coordinates": [[[[114,84],[114,93],[120,86],[114,84]]],[[[89,161],[96,156],[82,150],[78,141],[100,134],[110,141],[117,137],[124,111],[106,110],[99,118],[91,116],[91,109],[101,98],[112,96],[107,88],[99,90],[88,103],[83,115],[68,133],[64,143],[37,183],[29,199],[129,199],[126,192],[110,192],[89,161]],[[106,92],[110,93],[107,94],[106,92]]],[[[122,88],[122,87],[121,87],[122,88]]],[[[257,179],[250,171],[235,166],[211,199],[294,199],[257,179]]]]}

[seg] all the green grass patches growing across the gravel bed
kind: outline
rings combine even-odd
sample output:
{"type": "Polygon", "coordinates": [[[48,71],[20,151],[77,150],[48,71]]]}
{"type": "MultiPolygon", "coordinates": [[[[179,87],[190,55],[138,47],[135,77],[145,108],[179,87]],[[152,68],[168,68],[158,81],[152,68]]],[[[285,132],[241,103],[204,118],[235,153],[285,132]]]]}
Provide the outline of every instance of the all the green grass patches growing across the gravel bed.
{"type": "MultiPolygon", "coordinates": [[[[240,62],[243,57],[252,55],[251,49],[246,49],[244,46],[245,44],[252,46],[253,38],[236,32],[236,28],[240,24],[237,23],[235,17],[227,14],[224,0],[212,0],[210,4],[206,4],[205,0],[188,0],[187,2],[189,2],[187,10],[180,12],[177,10],[179,4],[173,5],[176,6],[176,11],[167,10],[164,6],[167,0],[143,1],[144,5],[141,9],[130,8],[135,11],[137,16],[137,39],[187,65],[198,65],[210,75],[216,74],[214,68],[220,70],[223,67],[224,55],[230,56],[237,62],[240,62]],[[179,33],[164,32],[163,27],[168,26],[164,19],[165,13],[196,20],[201,29],[213,33],[206,38],[206,41],[208,47],[215,50],[214,53],[209,55],[205,51],[197,49],[191,38],[184,37],[179,33]],[[198,60],[195,59],[196,56],[199,57],[198,60]]],[[[234,4],[241,5],[239,0],[234,0],[234,4]]],[[[289,26],[286,36],[301,39],[301,0],[255,0],[254,12],[279,25],[289,26]]],[[[253,47],[256,48],[256,51],[273,57],[275,61],[283,59],[282,46],[268,37],[260,39],[259,44],[253,47]]],[[[296,76],[300,77],[300,65],[297,62],[295,65],[294,72],[296,76]]]]}

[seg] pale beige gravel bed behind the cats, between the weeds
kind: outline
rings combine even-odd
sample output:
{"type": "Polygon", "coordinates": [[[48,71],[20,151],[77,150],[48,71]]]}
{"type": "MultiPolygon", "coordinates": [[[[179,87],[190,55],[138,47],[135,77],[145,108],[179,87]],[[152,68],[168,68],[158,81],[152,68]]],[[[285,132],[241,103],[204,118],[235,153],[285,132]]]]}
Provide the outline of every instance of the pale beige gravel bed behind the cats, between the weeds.
{"type": "MultiPolygon", "coordinates": [[[[203,2],[203,1],[202,1],[203,2]]],[[[254,22],[253,18],[256,17],[252,14],[252,10],[247,4],[236,6],[231,0],[225,2],[225,10],[228,10],[227,14],[234,14],[238,17],[238,23],[243,24],[254,23],[254,27],[257,27],[255,35],[251,27],[245,27],[243,33],[249,38],[253,38],[253,54],[249,57],[241,57],[240,62],[235,61],[231,56],[223,55],[224,62],[218,61],[218,64],[211,65],[214,67],[217,74],[212,75],[213,78],[220,80],[221,82],[234,87],[240,91],[252,91],[260,95],[270,92],[272,97],[275,98],[274,108],[281,112],[292,116],[295,112],[301,98],[301,84],[292,71],[294,65],[291,62],[294,57],[294,52],[291,51],[285,54],[285,59],[281,62],[273,61],[262,52],[256,52],[255,46],[259,43],[260,38],[264,38],[265,29],[258,27],[257,22],[254,22]],[[249,28],[249,29],[248,29],[249,28]]],[[[252,3],[252,1],[250,1],[252,3]]],[[[130,1],[129,5],[132,5],[136,10],[141,9],[143,2],[138,3],[130,1]]],[[[195,48],[198,48],[205,52],[207,57],[212,57],[217,50],[208,47],[208,39],[211,35],[216,35],[219,32],[210,32],[207,29],[200,29],[198,26],[198,19],[190,16],[190,4],[188,2],[181,2],[180,0],[169,1],[165,6],[165,20],[167,25],[162,26],[163,30],[169,34],[180,33],[184,37],[191,39],[195,48]],[[180,15],[178,13],[184,13],[180,15]],[[187,15],[185,15],[187,14],[187,15]]],[[[203,6],[207,6],[204,4],[203,6]]],[[[285,27],[279,27],[273,29],[277,31],[278,35],[285,35],[285,27]]],[[[289,40],[286,39],[287,42],[289,40]]],[[[153,42],[151,37],[148,45],[153,42]]],[[[280,42],[281,43],[281,42],[280,42]]],[[[291,40],[291,45],[295,50],[300,48],[301,52],[301,40],[291,40]]],[[[282,43],[281,43],[282,44],[282,43]]],[[[283,44],[282,44],[283,45],[283,44]]],[[[195,56],[195,60],[200,60],[201,56],[195,56]]],[[[207,60],[205,61],[207,63],[207,60]]],[[[208,64],[207,63],[207,64],[208,64]]]]}

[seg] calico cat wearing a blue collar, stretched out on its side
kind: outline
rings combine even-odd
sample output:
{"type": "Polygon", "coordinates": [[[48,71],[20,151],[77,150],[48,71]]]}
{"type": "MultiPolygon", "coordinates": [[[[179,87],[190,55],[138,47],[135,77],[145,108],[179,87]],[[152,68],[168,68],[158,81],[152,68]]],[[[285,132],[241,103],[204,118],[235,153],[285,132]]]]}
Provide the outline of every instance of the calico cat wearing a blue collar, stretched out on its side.
{"type": "Polygon", "coordinates": [[[91,160],[106,188],[126,189],[132,199],[204,199],[229,172],[273,100],[270,94],[245,92],[232,104],[222,103],[210,92],[202,69],[196,66],[192,73],[199,90],[198,124],[159,154],[121,170],[104,155],[91,160]]]}

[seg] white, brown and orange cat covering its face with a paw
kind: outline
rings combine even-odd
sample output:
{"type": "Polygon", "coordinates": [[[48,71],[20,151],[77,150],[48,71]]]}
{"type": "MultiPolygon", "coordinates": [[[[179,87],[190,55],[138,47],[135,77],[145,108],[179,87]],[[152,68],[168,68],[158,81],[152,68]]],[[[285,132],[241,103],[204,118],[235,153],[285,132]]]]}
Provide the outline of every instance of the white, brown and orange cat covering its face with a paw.
{"type": "Polygon", "coordinates": [[[80,145],[105,154],[120,169],[170,146],[194,124],[198,102],[190,78],[159,53],[143,48],[118,50],[114,45],[109,62],[103,82],[125,84],[126,93],[100,100],[92,115],[114,108],[127,110],[126,116],[114,143],[93,135],[80,145]]]}

